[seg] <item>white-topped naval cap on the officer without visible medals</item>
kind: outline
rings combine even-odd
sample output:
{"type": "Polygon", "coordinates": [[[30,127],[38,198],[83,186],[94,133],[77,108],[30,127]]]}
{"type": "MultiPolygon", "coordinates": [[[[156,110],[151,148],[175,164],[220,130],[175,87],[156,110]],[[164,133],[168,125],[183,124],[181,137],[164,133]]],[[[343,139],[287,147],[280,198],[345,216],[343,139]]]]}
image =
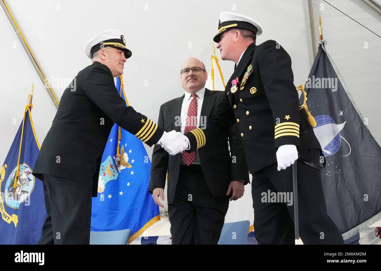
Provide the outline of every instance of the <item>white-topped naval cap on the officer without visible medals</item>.
{"type": "Polygon", "coordinates": [[[96,51],[106,46],[122,49],[126,58],[132,55],[131,51],[126,48],[126,40],[118,29],[107,29],[92,37],[86,43],[85,54],[91,58],[96,51]]]}

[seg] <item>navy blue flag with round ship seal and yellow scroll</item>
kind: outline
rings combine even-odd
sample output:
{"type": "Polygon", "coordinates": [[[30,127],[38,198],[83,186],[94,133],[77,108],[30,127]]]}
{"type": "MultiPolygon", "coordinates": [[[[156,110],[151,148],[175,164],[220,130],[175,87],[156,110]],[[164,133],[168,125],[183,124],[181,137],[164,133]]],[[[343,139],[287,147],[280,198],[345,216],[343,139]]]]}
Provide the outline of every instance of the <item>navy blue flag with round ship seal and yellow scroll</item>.
{"type": "Polygon", "coordinates": [[[39,152],[30,111],[26,109],[0,169],[0,244],[37,244],[41,238],[47,213],[42,182],[32,175],[39,152]]]}

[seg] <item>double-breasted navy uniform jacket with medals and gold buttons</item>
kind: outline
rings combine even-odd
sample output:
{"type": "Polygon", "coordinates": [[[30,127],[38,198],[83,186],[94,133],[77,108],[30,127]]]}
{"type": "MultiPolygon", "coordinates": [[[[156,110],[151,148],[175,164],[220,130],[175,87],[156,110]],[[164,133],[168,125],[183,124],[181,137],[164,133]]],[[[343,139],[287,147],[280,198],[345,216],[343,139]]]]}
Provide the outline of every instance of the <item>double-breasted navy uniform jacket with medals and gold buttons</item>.
{"type": "MultiPolygon", "coordinates": [[[[298,112],[298,109],[290,56],[274,40],[258,46],[252,43],[227,81],[224,99],[215,115],[202,131],[206,142],[210,142],[237,123],[249,170],[253,173],[276,163],[276,151],[281,145],[296,145],[299,151],[321,148],[305,111],[298,112]],[[252,71],[240,90],[250,65],[252,71]],[[237,77],[238,91],[233,94],[232,81],[237,77]]],[[[194,151],[197,140],[192,132],[186,136],[191,143],[189,151],[194,151]]]]}

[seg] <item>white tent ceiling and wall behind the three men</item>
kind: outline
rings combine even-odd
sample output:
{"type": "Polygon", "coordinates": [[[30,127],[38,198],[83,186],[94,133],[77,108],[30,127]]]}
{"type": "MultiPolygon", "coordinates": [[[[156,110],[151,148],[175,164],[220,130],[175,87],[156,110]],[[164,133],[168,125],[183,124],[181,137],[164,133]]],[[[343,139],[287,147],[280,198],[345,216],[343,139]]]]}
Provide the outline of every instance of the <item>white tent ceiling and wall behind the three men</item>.
{"type": "MultiPolygon", "coordinates": [[[[277,40],[293,61],[294,83],[305,82],[314,59],[307,1],[234,2],[8,0],[7,4],[47,78],[75,77],[79,70],[91,64],[84,54],[86,41],[101,30],[120,29],[133,52],[123,75],[130,105],[157,120],[160,105],[183,94],[179,68],[184,59],[197,57],[210,70],[211,41],[221,11],[246,14],[259,21],[264,33],[257,43],[277,40]]],[[[380,15],[362,1],[327,2],[381,35],[380,15]]],[[[374,2],[381,5],[380,0],[374,2]]],[[[315,39],[319,40],[320,13],[327,51],[343,75],[357,107],[368,118],[370,130],[381,143],[381,38],[322,0],[313,0],[312,9],[315,39]]],[[[35,82],[32,114],[40,143],[50,128],[56,107],[5,12],[0,11],[0,14],[0,159],[4,160],[22,120],[32,81],[35,82]]],[[[234,64],[229,61],[220,61],[220,64],[228,79],[234,64]]],[[[54,86],[58,99],[67,83],[54,86]]],[[[146,148],[151,155],[152,150],[146,148]]]]}

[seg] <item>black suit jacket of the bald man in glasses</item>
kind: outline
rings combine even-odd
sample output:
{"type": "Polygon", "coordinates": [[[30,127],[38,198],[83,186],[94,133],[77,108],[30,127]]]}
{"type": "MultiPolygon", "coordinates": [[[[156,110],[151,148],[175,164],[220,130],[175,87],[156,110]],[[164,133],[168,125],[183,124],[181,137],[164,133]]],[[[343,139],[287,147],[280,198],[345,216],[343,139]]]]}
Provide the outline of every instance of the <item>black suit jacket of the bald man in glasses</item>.
{"type": "MultiPolygon", "coordinates": [[[[201,108],[201,117],[209,119],[216,111],[218,104],[223,99],[223,91],[210,91],[205,89],[205,96],[201,108]]],[[[158,126],[166,132],[176,130],[180,132],[181,127],[175,125],[181,113],[181,105],[184,95],[166,102],[160,107],[158,126]]],[[[178,123],[178,122],[177,122],[178,123]]],[[[200,121],[201,126],[201,121],[200,121]]],[[[202,172],[210,192],[216,196],[225,196],[229,183],[232,180],[243,180],[249,182],[247,162],[243,151],[242,140],[236,124],[215,137],[210,138],[208,144],[199,150],[199,158],[202,172]],[[231,147],[232,158],[235,156],[236,163],[232,163],[228,148],[231,147]]],[[[151,179],[149,191],[155,188],[165,187],[165,177],[168,171],[168,204],[174,199],[176,185],[180,171],[180,154],[171,156],[156,145],[152,154],[151,179]]]]}

